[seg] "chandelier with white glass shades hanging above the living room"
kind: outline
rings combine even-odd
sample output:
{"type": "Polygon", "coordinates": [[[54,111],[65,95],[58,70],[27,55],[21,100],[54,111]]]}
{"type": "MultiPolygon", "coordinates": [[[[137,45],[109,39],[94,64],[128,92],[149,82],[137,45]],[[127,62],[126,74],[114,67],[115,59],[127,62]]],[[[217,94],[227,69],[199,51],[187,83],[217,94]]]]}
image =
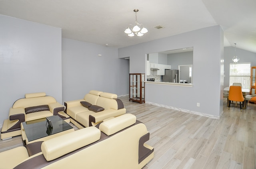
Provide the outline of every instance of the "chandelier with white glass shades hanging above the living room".
{"type": "Polygon", "coordinates": [[[144,27],[143,24],[139,24],[137,21],[137,12],[139,11],[138,9],[133,10],[135,12],[135,26],[132,26],[132,28],[129,28],[129,26],[125,29],[124,33],[127,33],[128,36],[143,36],[144,33],[148,32],[148,29],[144,27]],[[143,27],[142,27],[143,26],[143,27]]]}

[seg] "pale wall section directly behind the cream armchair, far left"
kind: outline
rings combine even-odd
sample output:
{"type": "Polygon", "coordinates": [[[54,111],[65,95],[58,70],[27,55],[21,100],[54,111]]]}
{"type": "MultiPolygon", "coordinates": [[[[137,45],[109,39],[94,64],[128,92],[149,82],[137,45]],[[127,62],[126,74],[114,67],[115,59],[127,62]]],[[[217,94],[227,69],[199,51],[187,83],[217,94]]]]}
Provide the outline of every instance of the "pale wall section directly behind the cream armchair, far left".
{"type": "Polygon", "coordinates": [[[26,93],[62,102],[61,29],[0,15],[0,124],[26,93]]]}

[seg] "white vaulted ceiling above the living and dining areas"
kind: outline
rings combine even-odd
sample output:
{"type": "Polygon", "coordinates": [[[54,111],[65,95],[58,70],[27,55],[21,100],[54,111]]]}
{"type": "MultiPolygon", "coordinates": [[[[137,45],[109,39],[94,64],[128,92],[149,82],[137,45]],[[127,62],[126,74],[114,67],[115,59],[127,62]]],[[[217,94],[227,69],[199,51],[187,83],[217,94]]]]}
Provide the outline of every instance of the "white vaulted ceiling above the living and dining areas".
{"type": "Polygon", "coordinates": [[[256,0],[0,0],[0,14],[62,28],[62,37],[126,47],[220,25],[224,46],[256,53],[256,0]],[[148,33],[128,37],[138,23],[148,33]],[[156,29],[162,25],[164,28],[156,29]]]}

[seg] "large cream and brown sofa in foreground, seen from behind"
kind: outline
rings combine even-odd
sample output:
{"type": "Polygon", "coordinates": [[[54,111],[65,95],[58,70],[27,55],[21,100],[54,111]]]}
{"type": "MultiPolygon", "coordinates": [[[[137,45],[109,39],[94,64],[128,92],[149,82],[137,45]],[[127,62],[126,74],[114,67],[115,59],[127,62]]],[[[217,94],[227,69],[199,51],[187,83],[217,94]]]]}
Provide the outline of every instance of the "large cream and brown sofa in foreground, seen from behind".
{"type": "Polygon", "coordinates": [[[146,126],[132,114],[0,153],[3,169],[141,169],[153,157],[146,126]]]}

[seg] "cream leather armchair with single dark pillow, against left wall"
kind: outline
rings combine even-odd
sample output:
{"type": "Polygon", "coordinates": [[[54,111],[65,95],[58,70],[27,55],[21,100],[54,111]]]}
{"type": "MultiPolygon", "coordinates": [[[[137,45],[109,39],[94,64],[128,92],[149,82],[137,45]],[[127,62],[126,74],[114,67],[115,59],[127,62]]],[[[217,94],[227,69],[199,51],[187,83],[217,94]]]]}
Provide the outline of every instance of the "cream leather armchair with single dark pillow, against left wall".
{"type": "Polygon", "coordinates": [[[9,118],[3,123],[1,139],[5,140],[21,135],[20,124],[22,122],[53,115],[58,115],[69,122],[69,116],[63,112],[64,109],[65,106],[56,102],[52,96],[46,96],[45,92],[25,94],[25,98],[16,100],[10,108],[9,118]]]}

